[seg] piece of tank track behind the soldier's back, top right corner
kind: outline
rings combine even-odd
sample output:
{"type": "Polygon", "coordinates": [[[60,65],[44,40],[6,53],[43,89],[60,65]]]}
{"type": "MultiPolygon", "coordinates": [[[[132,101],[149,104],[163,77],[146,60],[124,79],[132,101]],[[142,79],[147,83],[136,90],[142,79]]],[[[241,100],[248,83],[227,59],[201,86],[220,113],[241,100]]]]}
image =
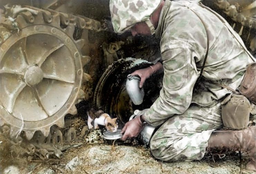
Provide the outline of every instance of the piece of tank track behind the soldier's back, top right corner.
{"type": "Polygon", "coordinates": [[[202,0],[224,17],[256,57],[256,3],[254,0],[202,0]],[[222,13],[222,12],[223,13],[222,13]]]}

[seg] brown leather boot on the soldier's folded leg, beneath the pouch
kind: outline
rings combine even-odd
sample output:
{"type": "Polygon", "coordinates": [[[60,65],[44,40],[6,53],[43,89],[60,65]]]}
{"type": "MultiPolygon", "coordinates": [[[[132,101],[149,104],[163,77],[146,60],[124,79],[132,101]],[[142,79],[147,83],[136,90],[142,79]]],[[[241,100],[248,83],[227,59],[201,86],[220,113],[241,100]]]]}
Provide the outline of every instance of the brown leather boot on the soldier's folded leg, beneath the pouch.
{"type": "Polygon", "coordinates": [[[256,126],[238,131],[214,131],[208,141],[208,150],[244,151],[252,158],[247,170],[256,171],[256,126]]]}

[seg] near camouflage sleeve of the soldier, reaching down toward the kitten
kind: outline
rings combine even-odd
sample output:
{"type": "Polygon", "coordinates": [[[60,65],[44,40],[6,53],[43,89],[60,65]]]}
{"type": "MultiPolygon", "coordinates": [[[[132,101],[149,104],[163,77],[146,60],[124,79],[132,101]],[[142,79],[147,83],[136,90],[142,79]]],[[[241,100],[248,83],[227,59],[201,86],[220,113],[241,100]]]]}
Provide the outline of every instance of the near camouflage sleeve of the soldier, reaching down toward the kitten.
{"type": "Polygon", "coordinates": [[[165,43],[161,46],[161,55],[163,88],[159,98],[144,114],[145,121],[152,126],[158,126],[174,114],[182,114],[188,109],[199,75],[194,59],[197,54],[188,43],[165,43]]]}

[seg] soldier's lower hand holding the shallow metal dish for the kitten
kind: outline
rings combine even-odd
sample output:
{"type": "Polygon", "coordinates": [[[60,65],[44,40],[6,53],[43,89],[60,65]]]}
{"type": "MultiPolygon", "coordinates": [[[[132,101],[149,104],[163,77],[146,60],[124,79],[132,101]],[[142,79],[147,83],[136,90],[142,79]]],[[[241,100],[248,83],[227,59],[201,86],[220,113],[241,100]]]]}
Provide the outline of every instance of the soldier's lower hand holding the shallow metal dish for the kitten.
{"type": "Polygon", "coordinates": [[[140,132],[142,131],[142,122],[140,120],[140,117],[137,116],[134,119],[132,119],[131,121],[127,122],[123,129],[122,129],[122,134],[123,136],[121,137],[121,140],[125,141],[127,138],[132,138],[132,137],[136,137],[140,134],[140,132]]]}

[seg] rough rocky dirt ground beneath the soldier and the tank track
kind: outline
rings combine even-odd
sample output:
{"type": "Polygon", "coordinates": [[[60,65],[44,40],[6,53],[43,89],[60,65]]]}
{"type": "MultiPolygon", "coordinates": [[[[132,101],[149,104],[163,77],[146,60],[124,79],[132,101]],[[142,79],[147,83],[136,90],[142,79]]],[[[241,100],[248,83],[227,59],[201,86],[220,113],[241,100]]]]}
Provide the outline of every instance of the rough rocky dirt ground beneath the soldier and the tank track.
{"type": "Polygon", "coordinates": [[[0,135],[0,174],[252,174],[244,170],[247,161],[246,154],[237,152],[221,159],[206,154],[200,161],[164,163],[154,160],[148,147],[118,141],[90,144],[88,137],[60,159],[42,161],[0,135]]]}

